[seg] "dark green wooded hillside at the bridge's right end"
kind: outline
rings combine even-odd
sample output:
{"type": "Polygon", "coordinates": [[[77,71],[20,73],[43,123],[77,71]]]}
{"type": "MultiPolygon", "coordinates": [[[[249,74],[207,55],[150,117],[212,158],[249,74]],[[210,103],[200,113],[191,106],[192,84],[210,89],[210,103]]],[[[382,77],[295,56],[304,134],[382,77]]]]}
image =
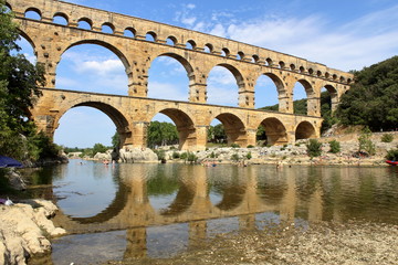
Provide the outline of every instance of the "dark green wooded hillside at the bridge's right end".
{"type": "Polygon", "coordinates": [[[355,84],[342,96],[337,116],[343,125],[371,130],[398,124],[398,56],[355,72],[355,84]]]}

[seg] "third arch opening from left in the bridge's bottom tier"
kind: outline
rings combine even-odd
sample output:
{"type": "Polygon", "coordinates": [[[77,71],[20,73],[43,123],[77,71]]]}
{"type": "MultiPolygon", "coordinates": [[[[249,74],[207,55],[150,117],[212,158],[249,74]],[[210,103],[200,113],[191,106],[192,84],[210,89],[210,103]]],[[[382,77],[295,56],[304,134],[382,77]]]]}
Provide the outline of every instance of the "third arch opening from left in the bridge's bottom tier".
{"type": "Polygon", "coordinates": [[[208,129],[208,145],[213,144],[237,144],[247,146],[245,128],[242,120],[233,114],[220,114],[214,117],[208,129]]]}

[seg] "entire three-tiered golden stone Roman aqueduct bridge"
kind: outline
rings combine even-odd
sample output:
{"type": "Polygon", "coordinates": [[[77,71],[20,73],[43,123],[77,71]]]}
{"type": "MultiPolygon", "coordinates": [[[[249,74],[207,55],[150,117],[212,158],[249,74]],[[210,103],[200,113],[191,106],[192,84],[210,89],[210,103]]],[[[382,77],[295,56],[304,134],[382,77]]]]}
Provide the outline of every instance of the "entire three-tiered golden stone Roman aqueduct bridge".
{"type": "Polygon", "coordinates": [[[21,35],[45,67],[46,87],[41,88],[43,96],[31,114],[39,128],[50,136],[67,110],[90,106],[112,118],[125,146],[145,147],[147,126],[158,113],[175,121],[181,149],[205,149],[207,128],[214,118],[223,124],[229,144],[255,145],[260,125],[270,144],[294,142],[320,136],[321,89],[329,92],[335,109],[353,82],[352,74],[320,63],[145,19],[56,0],[7,0],[7,7],[14,12],[21,35]],[[40,19],[27,18],[27,12],[35,12],[40,19]],[[65,23],[56,23],[54,18],[63,18],[65,23]],[[82,29],[83,22],[90,29],[82,29]],[[128,96],[56,86],[62,54],[80,44],[104,46],[121,59],[128,77],[128,96]],[[148,70],[159,56],[177,60],[187,71],[188,102],[147,97],[148,70]],[[235,77],[238,107],[207,104],[207,77],[214,66],[226,67],[235,77]],[[254,109],[254,87],[262,75],[275,84],[279,112],[254,109]],[[293,114],[293,88],[297,82],[306,92],[307,115],[293,114]]]}

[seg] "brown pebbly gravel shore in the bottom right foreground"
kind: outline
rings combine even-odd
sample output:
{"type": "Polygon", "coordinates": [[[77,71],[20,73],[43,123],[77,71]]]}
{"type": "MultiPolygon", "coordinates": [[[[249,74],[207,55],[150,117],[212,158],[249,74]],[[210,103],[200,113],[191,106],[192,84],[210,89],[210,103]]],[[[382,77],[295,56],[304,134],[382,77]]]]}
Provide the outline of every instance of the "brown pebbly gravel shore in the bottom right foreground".
{"type": "Polygon", "coordinates": [[[222,234],[172,258],[128,259],[106,264],[396,264],[398,225],[349,222],[268,226],[263,231],[222,234]]]}

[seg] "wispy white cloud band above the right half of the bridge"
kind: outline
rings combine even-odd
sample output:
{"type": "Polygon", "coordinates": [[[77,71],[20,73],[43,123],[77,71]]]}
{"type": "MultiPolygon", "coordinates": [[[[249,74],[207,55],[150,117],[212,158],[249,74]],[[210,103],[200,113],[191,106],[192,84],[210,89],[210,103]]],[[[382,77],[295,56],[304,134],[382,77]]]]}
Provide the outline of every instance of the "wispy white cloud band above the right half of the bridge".
{"type": "MultiPolygon", "coordinates": [[[[189,12],[186,10],[186,13],[189,12]]],[[[349,71],[398,53],[397,13],[398,6],[394,6],[336,25],[338,21],[320,14],[286,17],[272,13],[242,20],[234,18],[232,12],[213,12],[200,19],[197,15],[193,23],[186,25],[349,71]]]]}

